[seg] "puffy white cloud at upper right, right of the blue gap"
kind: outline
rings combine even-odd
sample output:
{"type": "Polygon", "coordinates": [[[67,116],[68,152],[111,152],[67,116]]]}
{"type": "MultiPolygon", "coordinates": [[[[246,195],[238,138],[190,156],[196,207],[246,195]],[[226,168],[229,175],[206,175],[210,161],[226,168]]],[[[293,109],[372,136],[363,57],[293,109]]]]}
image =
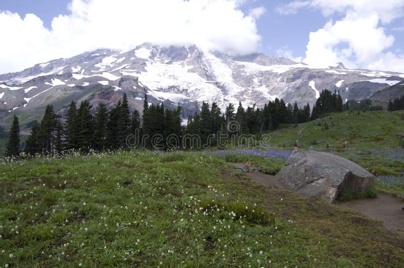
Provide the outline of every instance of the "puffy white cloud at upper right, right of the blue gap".
{"type": "MultiPolygon", "coordinates": [[[[404,1],[294,1],[283,8],[289,5],[296,7],[296,12],[299,8],[316,8],[325,16],[344,14],[342,19],[329,21],[310,33],[304,62],[324,66],[343,62],[348,68],[404,72],[404,55],[389,51],[394,36],[386,34],[381,26],[403,16],[404,1]]],[[[281,8],[277,10],[279,13],[281,8]]]]}

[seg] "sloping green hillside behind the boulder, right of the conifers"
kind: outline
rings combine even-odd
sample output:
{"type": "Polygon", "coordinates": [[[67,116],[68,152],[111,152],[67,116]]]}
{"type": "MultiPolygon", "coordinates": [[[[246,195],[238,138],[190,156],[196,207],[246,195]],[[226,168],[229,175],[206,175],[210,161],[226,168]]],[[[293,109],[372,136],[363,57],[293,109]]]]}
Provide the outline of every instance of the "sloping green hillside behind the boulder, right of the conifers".
{"type": "Polygon", "coordinates": [[[333,113],[314,121],[285,125],[270,132],[273,146],[293,148],[296,140],[299,147],[325,150],[327,142],[331,149],[392,149],[399,147],[399,132],[404,132],[402,111],[333,113]]]}

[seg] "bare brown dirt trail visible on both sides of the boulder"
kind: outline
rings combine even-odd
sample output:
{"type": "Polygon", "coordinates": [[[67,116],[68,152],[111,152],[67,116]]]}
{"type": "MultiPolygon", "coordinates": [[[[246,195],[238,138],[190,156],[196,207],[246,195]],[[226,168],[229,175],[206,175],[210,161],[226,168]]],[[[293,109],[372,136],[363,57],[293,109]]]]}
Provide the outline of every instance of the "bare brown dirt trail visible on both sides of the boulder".
{"type": "MultiPolygon", "coordinates": [[[[243,164],[232,163],[235,167],[241,167],[243,164]]],[[[283,189],[275,176],[261,172],[245,173],[251,181],[264,185],[268,188],[276,187],[283,189]]],[[[386,229],[404,236],[404,202],[400,199],[379,192],[377,198],[356,199],[349,202],[338,202],[337,206],[356,210],[370,218],[384,222],[386,229]]]]}

